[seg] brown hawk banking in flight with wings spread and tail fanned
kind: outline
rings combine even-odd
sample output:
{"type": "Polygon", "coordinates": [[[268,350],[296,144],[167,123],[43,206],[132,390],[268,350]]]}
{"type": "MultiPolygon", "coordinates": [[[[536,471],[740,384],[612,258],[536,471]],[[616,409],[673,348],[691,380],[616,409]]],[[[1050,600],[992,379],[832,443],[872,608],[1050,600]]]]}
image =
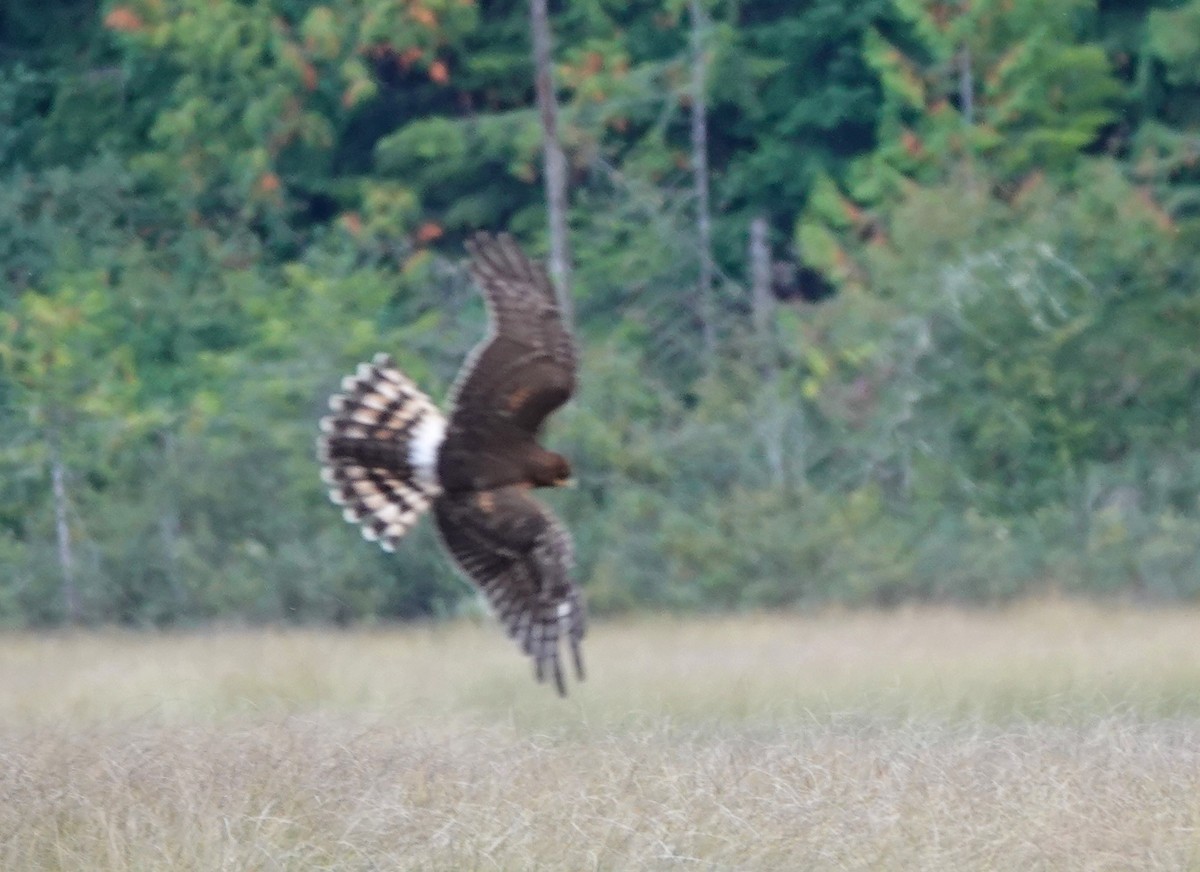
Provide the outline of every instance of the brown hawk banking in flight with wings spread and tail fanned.
{"type": "Polygon", "coordinates": [[[575,390],[575,342],[545,269],[510,236],[476,234],[467,249],[490,329],[450,391],[449,415],[378,354],[329,401],[322,479],[346,519],[389,552],[432,506],[454,563],[533,658],[538,680],[553,676],[565,696],[559,639],[582,679],[583,602],[570,534],[530,491],[571,475],[538,434],[575,390]]]}

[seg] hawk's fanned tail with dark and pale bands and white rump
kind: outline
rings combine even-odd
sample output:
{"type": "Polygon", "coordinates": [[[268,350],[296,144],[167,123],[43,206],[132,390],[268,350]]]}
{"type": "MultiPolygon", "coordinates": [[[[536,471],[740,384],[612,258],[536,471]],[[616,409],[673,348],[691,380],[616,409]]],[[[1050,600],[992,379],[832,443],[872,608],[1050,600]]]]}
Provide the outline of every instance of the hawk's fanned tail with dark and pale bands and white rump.
{"type": "Polygon", "coordinates": [[[329,398],[320,420],[320,477],[342,516],[384,551],[416,523],[442,493],[438,449],[446,421],[386,354],[360,363],[329,398]]]}

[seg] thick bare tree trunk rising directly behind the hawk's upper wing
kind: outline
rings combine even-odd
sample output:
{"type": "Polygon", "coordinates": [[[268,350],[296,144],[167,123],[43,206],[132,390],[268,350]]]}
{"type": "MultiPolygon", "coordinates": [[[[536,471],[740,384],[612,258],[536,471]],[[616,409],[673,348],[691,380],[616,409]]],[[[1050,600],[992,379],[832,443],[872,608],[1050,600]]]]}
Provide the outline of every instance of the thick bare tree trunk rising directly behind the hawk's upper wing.
{"type": "Polygon", "coordinates": [[[529,0],[533,34],[534,89],[541,114],[541,149],[550,218],[550,276],[558,289],[558,305],[571,319],[571,252],[566,237],[566,157],[558,142],[558,101],[551,67],[550,18],[546,0],[529,0]]]}

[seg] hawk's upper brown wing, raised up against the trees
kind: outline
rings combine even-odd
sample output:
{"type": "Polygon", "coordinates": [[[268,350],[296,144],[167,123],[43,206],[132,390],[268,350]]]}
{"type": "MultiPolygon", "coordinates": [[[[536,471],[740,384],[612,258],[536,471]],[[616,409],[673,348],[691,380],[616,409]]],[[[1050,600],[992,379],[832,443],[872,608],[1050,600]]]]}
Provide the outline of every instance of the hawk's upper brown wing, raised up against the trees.
{"type": "MultiPolygon", "coordinates": [[[[451,392],[472,427],[488,438],[482,419],[515,425],[535,435],[542,421],[575,390],[575,342],[563,324],[554,287],[541,264],[532,261],[508,234],[478,234],[467,243],[472,273],[484,290],[491,317],[487,338],[463,365],[451,392]]],[[[463,445],[462,447],[469,447],[463,445]]]]}

